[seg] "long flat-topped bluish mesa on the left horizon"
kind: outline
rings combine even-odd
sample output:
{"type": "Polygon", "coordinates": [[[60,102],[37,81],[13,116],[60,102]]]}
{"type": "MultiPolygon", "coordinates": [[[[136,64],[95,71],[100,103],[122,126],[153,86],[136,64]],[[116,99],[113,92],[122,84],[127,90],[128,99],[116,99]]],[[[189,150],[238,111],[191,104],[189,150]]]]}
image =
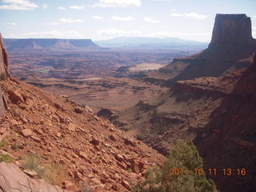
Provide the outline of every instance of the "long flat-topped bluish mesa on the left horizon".
{"type": "Polygon", "coordinates": [[[6,50],[74,50],[100,48],[90,39],[5,38],[6,50]]]}

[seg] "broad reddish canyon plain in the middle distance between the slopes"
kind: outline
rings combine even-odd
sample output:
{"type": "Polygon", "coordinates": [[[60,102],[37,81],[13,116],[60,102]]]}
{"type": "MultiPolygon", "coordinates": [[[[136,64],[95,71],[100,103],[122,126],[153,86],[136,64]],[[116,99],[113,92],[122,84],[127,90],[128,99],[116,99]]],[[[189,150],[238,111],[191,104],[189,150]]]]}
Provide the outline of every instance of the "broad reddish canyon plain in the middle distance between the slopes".
{"type": "Polygon", "coordinates": [[[9,50],[10,74],[54,94],[69,96],[94,111],[121,110],[166,88],[138,78],[193,51],[180,50],[9,50]],[[157,68],[155,68],[157,66],[157,68]],[[126,99],[123,96],[127,95],[126,99]]]}

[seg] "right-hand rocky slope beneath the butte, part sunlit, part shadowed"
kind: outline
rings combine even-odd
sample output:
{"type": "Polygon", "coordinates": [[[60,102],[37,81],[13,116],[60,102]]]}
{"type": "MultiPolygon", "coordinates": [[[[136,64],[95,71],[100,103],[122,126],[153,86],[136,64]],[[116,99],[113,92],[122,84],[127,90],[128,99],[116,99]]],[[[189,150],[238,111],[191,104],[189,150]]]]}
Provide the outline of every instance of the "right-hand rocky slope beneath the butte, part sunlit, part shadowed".
{"type": "Polygon", "coordinates": [[[129,134],[166,154],[178,138],[193,140],[205,170],[221,191],[254,191],[256,125],[256,54],[254,65],[221,78],[178,81],[155,102],[136,106],[108,118],[129,134]],[[222,169],[232,169],[223,175],[222,169]],[[238,169],[246,175],[238,175],[238,169]],[[234,176],[234,174],[236,174],[234,176]]]}

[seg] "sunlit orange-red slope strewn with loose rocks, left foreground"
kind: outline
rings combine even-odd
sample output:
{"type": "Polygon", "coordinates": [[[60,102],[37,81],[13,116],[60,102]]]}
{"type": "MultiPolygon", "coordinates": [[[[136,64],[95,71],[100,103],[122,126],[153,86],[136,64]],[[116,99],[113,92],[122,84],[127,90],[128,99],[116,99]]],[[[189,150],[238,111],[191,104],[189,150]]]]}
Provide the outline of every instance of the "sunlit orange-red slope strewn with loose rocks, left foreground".
{"type": "Polygon", "coordinates": [[[42,165],[61,164],[61,186],[66,190],[78,190],[82,182],[92,191],[129,191],[130,180],[142,179],[148,166],[163,160],[146,144],[68,98],[13,78],[0,81],[0,87],[6,108],[1,105],[6,113],[0,142],[7,143],[1,153],[8,151],[18,165],[28,154],[39,155],[42,165]]]}

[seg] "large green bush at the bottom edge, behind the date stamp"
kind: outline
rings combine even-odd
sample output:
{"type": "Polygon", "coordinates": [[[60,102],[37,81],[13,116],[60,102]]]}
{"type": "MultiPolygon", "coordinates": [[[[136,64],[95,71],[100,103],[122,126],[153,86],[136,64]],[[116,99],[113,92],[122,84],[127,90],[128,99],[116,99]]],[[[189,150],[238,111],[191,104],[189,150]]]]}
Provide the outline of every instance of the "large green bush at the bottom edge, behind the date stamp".
{"type": "Polygon", "coordinates": [[[213,192],[214,182],[205,174],[195,174],[195,169],[202,169],[203,162],[192,142],[178,140],[177,144],[162,166],[151,167],[143,182],[135,183],[133,192],[213,192]],[[172,168],[183,173],[170,175],[172,168]]]}

